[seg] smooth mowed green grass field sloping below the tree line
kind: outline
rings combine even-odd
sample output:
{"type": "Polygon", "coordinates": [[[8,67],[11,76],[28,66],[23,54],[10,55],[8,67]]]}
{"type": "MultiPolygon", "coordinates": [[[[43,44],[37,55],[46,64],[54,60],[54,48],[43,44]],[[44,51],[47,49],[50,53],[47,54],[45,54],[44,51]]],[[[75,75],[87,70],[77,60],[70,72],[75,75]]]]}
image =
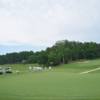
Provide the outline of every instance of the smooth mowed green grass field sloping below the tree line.
{"type": "Polygon", "coordinates": [[[29,72],[27,64],[9,66],[20,73],[0,75],[0,100],[100,100],[100,71],[79,74],[100,67],[100,59],[42,72],[29,72]]]}

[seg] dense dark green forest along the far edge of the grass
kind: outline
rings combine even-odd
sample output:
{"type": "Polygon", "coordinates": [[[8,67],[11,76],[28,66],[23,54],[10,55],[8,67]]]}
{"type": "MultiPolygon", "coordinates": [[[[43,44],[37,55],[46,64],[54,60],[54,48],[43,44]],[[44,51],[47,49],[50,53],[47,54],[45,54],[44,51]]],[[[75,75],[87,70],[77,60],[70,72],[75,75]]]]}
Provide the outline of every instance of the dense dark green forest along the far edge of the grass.
{"type": "Polygon", "coordinates": [[[0,64],[38,63],[43,66],[55,66],[70,61],[95,58],[100,58],[100,44],[63,40],[44,51],[0,55],[0,64]]]}

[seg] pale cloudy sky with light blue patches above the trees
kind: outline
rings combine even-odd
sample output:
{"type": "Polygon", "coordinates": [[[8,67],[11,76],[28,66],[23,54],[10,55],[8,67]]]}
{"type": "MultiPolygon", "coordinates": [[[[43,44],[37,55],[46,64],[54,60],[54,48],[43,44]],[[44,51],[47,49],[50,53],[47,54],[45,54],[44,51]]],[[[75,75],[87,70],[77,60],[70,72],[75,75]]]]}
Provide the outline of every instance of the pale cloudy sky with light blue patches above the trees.
{"type": "Polygon", "coordinates": [[[99,37],[100,0],[0,0],[0,54],[99,37]]]}

